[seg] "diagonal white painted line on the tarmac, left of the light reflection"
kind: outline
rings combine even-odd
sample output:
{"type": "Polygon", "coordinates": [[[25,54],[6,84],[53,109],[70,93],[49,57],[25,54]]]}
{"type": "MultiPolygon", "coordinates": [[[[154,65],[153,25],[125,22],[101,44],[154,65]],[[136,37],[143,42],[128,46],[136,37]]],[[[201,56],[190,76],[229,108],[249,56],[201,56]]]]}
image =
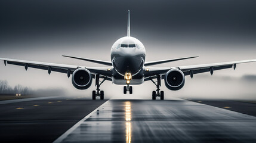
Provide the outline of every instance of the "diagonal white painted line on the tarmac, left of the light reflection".
{"type": "Polygon", "coordinates": [[[73,132],[73,130],[75,130],[76,128],[78,128],[78,126],[80,126],[82,123],[84,123],[85,120],[87,120],[89,117],[91,117],[92,114],[94,114],[97,110],[100,110],[101,107],[103,107],[103,105],[105,105],[108,101],[104,102],[103,104],[101,104],[98,108],[96,108],[95,110],[93,110],[91,113],[89,113],[87,116],[85,116],[83,119],[79,120],[78,123],[76,123],[74,126],[72,126],[72,128],[70,128],[69,130],[67,130],[66,132],[64,132],[60,137],[58,137],[53,143],[58,143],[58,142],[62,142],[64,138],[66,138],[70,133],[73,132]]]}

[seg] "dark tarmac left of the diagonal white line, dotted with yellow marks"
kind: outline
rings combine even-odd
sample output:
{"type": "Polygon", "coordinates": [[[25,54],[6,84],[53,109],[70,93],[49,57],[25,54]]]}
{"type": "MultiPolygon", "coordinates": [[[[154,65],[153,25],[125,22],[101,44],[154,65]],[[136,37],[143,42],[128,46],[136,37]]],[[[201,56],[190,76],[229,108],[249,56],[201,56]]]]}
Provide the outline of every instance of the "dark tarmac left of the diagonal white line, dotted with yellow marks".
{"type": "Polygon", "coordinates": [[[1,142],[53,142],[103,102],[73,98],[5,101],[0,105],[1,142]]]}

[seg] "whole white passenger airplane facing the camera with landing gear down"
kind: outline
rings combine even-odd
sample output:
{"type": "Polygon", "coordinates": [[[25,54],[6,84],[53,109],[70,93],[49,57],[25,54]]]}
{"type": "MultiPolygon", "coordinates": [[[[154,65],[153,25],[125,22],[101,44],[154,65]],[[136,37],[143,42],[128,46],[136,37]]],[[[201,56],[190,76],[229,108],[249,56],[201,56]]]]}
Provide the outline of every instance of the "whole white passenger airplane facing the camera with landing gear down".
{"type": "Polygon", "coordinates": [[[194,74],[210,72],[215,70],[236,69],[236,64],[255,62],[254,60],[231,61],[224,63],[199,64],[192,66],[178,67],[150,67],[157,64],[169,63],[178,60],[186,60],[196,57],[174,58],[159,61],[146,61],[146,49],[138,39],[130,35],[130,14],[128,10],[127,36],[118,39],[111,48],[111,61],[94,60],[90,58],[80,58],[63,55],[63,57],[75,58],[78,60],[90,61],[92,63],[103,64],[104,67],[85,67],[67,64],[42,63],[37,61],[24,61],[9,58],[0,58],[7,64],[23,66],[25,70],[29,67],[35,69],[48,70],[59,73],[66,73],[67,77],[72,74],[72,84],[76,89],[88,89],[95,79],[96,90],[92,91],[92,100],[100,97],[104,100],[104,91],[100,90],[100,85],[109,80],[116,85],[124,85],[124,94],[132,94],[131,85],[140,85],[151,80],[156,85],[156,90],[152,91],[152,100],[160,97],[164,100],[164,91],[160,90],[161,80],[164,80],[165,86],[177,91],[183,88],[185,76],[193,78],[194,74]],[[102,79],[102,81],[100,81],[102,79]],[[156,80],[156,81],[155,81],[156,80]]]}

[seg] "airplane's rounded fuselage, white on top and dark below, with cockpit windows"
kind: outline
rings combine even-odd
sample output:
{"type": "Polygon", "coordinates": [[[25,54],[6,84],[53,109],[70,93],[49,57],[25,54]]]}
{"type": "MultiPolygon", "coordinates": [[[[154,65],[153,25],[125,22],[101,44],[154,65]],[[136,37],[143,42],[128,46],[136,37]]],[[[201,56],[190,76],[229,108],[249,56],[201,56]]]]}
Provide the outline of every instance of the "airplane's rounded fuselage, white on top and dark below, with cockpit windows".
{"type": "Polygon", "coordinates": [[[124,75],[127,72],[132,75],[131,85],[143,83],[145,57],[144,45],[138,39],[131,36],[118,39],[111,48],[113,83],[126,85],[124,75]]]}

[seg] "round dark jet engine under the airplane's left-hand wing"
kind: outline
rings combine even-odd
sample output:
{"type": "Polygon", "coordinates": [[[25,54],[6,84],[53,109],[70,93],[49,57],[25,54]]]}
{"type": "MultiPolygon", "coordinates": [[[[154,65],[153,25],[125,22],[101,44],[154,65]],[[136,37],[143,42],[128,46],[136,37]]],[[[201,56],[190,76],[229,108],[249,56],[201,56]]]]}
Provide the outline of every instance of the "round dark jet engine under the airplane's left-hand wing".
{"type": "Polygon", "coordinates": [[[72,84],[77,89],[90,88],[92,83],[91,72],[87,69],[76,69],[72,74],[72,84]]]}

